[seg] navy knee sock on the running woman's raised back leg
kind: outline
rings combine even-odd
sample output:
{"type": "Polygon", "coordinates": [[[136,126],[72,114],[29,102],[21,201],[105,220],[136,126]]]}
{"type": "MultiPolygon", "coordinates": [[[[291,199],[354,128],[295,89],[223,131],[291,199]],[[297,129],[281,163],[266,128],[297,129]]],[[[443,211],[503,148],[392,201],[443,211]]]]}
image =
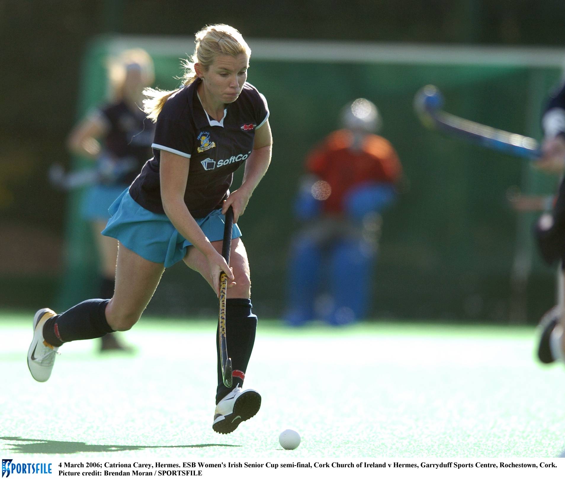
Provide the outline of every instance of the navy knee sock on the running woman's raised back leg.
{"type": "Polygon", "coordinates": [[[106,321],[109,299],[89,299],[73,306],[62,314],[49,318],[43,326],[43,337],[52,346],[76,339],[101,338],[114,330],[106,321]]]}

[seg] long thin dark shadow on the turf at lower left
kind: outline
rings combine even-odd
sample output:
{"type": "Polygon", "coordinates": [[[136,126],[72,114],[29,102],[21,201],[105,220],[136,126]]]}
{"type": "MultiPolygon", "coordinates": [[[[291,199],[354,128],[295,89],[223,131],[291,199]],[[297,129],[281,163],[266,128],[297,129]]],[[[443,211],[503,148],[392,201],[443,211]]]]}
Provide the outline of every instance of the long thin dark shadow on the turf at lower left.
{"type": "Polygon", "coordinates": [[[86,444],[85,442],[70,441],[46,441],[44,439],[24,439],[21,437],[0,437],[4,441],[18,441],[11,451],[20,454],[76,454],[77,452],[118,452],[118,451],[142,451],[144,449],[170,449],[183,447],[241,447],[234,444],[193,444],[186,446],[116,446],[86,444]]]}

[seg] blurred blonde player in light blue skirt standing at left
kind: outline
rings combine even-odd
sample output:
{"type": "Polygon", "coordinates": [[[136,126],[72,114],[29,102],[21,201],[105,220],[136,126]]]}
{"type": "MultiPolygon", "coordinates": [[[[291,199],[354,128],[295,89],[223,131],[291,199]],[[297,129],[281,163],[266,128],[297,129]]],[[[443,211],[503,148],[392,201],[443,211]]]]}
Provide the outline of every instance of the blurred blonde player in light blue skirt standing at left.
{"type": "MultiPolygon", "coordinates": [[[[100,267],[98,296],[114,295],[118,241],[101,235],[110,218],[108,208],[136,178],[151,157],[155,127],[141,110],[143,90],[153,84],[153,61],[141,49],[124,51],[109,68],[110,102],[93,110],[71,132],[71,153],[95,162],[97,175],[86,190],[82,218],[90,224],[100,267]]],[[[101,351],[127,349],[114,334],[101,338],[101,351]]]]}

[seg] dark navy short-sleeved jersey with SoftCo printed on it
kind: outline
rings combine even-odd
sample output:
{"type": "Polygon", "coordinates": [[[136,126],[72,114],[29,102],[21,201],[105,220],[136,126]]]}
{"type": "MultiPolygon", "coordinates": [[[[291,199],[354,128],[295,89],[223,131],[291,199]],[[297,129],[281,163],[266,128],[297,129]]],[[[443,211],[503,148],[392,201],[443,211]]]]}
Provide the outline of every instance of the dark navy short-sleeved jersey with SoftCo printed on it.
{"type": "Polygon", "coordinates": [[[265,97],[245,83],[237,100],[226,105],[221,121],[210,118],[198,97],[200,81],[179,89],[163,105],[152,145],[154,157],[129,188],[132,198],[151,212],[164,213],[159,178],[162,150],[190,159],[184,201],[194,218],[203,218],[221,208],[229,196],[233,172],[253,151],[255,130],[269,116],[265,97]]]}

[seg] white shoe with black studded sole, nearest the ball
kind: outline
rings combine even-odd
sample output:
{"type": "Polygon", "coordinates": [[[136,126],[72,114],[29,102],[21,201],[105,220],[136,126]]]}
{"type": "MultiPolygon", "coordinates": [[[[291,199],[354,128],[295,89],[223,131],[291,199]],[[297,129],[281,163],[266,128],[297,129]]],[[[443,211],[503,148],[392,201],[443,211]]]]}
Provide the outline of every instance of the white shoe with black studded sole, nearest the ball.
{"type": "Polygon", "coordinates": [[[232,433],[240,422],[255,416],[260,407],[261,395],[257,391],[253,389],[242,391],[241,387],[236,387],[216,406],[212,429],[220,434],[232,433]]]}

